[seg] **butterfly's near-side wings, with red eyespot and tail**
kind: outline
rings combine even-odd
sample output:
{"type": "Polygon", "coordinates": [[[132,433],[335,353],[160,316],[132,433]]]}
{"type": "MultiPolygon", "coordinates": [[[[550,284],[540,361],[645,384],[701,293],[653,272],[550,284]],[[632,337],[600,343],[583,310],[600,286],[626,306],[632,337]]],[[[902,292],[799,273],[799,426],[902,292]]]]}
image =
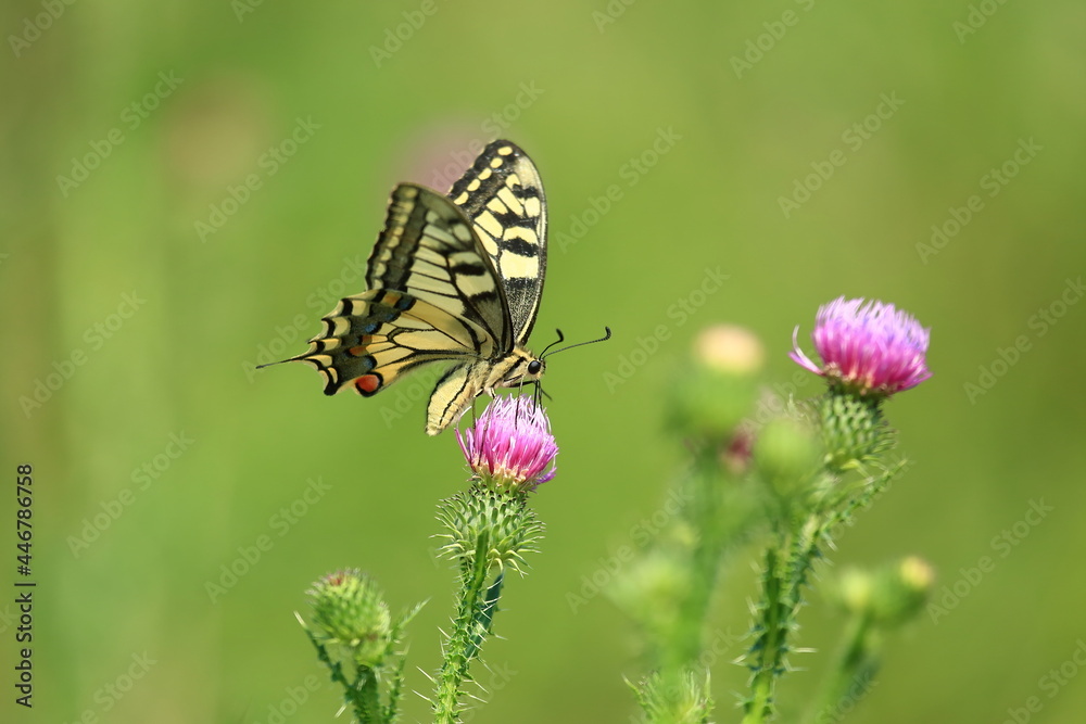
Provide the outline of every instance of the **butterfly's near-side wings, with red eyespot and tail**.
{"type": "Polygon", "coordinates": [[[325,377],[325,394],[353,384],[370,396],[421,365],[501,358],[513,346],[490,258],[464,213],[434,191],[392,191],[366,280],[369,290],[341,300],[293,358],[325,377]]]}

